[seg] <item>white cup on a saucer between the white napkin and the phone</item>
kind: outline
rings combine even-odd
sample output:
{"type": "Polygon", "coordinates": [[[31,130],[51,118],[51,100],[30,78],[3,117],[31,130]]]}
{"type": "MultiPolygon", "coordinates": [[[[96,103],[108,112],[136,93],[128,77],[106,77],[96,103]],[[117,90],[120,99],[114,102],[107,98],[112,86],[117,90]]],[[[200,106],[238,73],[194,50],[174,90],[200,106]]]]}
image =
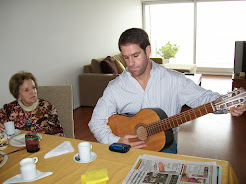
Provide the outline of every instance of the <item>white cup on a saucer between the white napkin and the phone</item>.
{"type": "Polygon", "coordinates": [[[89,162],[91,159],[92,145],[89,142],[81,142],[78,144],[79,158],[82,162],[89,162]]]}

